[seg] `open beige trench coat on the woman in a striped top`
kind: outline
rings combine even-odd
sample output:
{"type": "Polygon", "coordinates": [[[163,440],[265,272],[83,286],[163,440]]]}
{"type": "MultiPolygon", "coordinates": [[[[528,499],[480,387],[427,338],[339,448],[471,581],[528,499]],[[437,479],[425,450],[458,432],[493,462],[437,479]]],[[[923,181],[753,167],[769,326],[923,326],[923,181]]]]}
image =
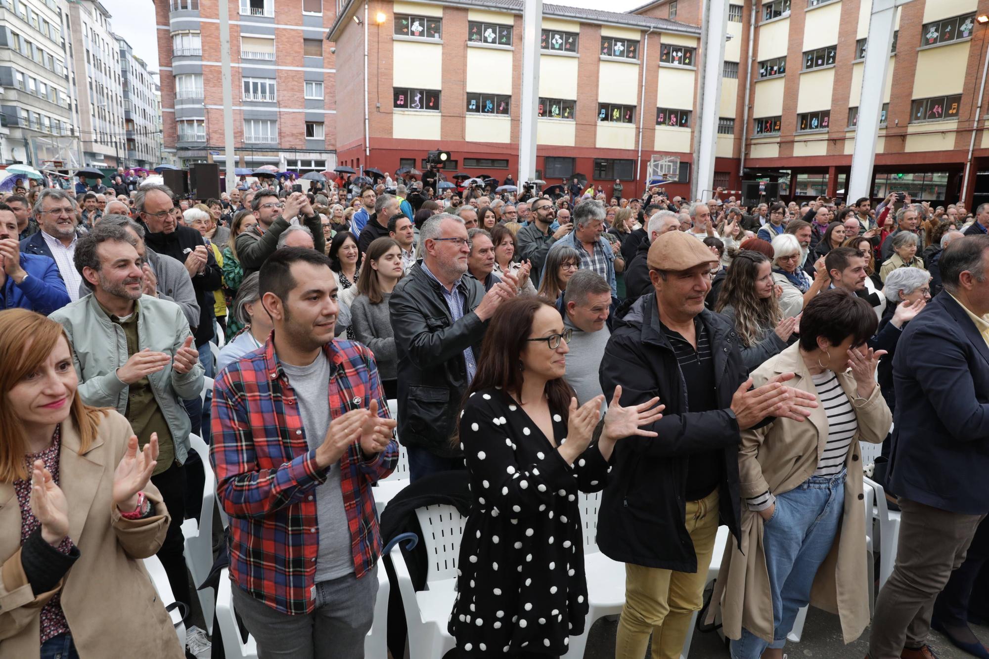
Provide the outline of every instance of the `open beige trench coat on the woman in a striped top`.
{"type": "MultiPolygon", "coordinates": [[[[810,371],[794,343],[766,360],[753,372],[759,387],[779,373],[795,373],[787,384],[816,395],[810,371]]],[[[889,431],[892,415],[879,387],[868,399],[858,397],[851,372],[839,373],[839,383],[855,410],[858,432],[846,459],[845,508],[838,537],[817,571],[810,603],[818,609],[837,613],[842,634],[851,643],[868,624],[868,591],[865,566],[865,512],[862,505],[862,468],[858,441],[881,442],[889,431]]],[[[810,478],[817,469],[828,441],[828,418],[823,407],[814,409],[804,422],[788,419],[742,432],[739,448],[740,495],[743,498],[741,550],[730,542],[721,562],[721,571],[707,619],[721,612],[725,636],[740,638],[742,628],[772,640],[772,606],[769,576],[765,568],[763,518],[745,510],[745,498],[766,490],[778,495],[810,478]],[[719,609],[720,606],[720,609],[719,609]]]]}

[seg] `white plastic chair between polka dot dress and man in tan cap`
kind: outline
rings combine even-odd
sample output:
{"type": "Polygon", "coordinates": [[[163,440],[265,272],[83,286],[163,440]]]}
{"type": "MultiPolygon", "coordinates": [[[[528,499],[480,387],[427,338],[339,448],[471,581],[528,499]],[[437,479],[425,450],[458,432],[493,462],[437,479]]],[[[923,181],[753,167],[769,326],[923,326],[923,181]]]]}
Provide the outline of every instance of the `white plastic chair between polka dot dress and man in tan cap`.
{"type": "Polygon", "coordinates": [[[581,493],[581,524],[584,529],[584,574],[587,579],[587,616],[584,633],[571,636],[567,659],[581,659],[587,645],[587,633],[597,619],[620,613],[625,605],[625,564],[608,558],[597,548],[597,511],[601,493],[581,493]]]}

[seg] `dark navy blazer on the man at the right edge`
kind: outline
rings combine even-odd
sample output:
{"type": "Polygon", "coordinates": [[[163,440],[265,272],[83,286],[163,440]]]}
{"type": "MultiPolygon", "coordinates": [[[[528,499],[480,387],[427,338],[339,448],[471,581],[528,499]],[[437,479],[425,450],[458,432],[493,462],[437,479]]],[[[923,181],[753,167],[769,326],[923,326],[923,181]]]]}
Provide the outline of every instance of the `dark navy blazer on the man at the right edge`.
{"type": "Polygon", "coordinates": [[[903,330],[893,388],[890,490],[952,513],[989,513],[989,346],[946,292],[903,330]]]}

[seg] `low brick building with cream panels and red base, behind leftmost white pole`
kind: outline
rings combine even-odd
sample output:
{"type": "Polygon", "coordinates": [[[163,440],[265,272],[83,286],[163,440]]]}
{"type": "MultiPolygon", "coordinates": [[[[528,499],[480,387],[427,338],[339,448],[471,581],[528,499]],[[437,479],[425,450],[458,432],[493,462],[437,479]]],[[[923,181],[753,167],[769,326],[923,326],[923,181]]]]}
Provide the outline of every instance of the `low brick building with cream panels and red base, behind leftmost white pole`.
{"type": "MultiPolygon", "coordinates": [[[[441,148],[448,170],[516,174],[520,0],[337,5],[326,40],[336,48],[341,164],[422,168],[426,151],[441,148]]],[[[666,157],[678,162],[668,191],[687,194],[700,29],[550,4],[543,14],[538,175],[559,183],[581,173],[608,192],[620,179],[628,196],[650,159],[666,157]]]]}

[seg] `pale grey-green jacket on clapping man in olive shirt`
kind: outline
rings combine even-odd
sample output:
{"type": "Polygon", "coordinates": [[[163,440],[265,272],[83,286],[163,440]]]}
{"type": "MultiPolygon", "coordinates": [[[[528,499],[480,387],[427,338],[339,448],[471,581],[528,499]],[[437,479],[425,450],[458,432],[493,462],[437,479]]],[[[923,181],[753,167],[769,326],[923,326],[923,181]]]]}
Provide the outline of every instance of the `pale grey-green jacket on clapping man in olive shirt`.
{"type": "MultiPolygon", "coordinates": [[[[175,355],[186,336],[191,336],[189,321],[174,302],[157,300],[149,295],[137,301],[137,348],[175,355]]],[[[72,343],[72,359],[79,376],[79,395],[87,405],[116,408],[127,413],[130,387],[117,377],[117,369],[127,363],[127,335],[110,320],[96,296],[84,298],[51,314],[68,333],[72,343]],[[116,349],[115,349],[116,348],[116,349]]],[[[192,424],[182,407],[183,400],[199,398],[203,390],[203,366],[195,364],[188,373],[179,373],[169,363],[148,376],[154,400],[172,433],[175,460],[184,464],[189,454],[189,432],[192,424]]]]}

